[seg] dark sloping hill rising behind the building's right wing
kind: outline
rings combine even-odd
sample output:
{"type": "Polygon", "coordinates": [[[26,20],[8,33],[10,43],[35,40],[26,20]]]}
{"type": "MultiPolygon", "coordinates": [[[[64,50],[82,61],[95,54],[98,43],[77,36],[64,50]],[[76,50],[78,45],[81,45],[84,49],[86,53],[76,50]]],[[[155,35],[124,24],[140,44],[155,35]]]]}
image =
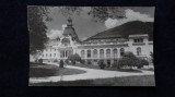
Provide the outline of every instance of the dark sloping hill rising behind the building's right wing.
{"type": "Polygon", "coordinates": [[[101,32],[84,41],[89,41],[92,39],[107,39],[107,38],[126,38],[128,39],[129,35],[135,34],[148,34],[150,40],[153,39],[153,22],[140,22],[132,21],[125,23],[120,26],[116,26],[110,29],[106,29],[101,32]]]}

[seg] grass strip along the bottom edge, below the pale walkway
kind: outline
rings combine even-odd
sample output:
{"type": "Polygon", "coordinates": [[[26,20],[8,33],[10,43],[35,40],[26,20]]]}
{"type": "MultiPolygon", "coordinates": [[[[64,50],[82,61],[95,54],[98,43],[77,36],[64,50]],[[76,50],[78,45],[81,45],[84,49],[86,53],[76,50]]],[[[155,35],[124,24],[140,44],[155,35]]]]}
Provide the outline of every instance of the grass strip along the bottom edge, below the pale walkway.
{"type": "Polygon", "coordinates": [[[154,75],[124,76],[70,82],[35,83],[30,86],[155,86],[154,75]]]}

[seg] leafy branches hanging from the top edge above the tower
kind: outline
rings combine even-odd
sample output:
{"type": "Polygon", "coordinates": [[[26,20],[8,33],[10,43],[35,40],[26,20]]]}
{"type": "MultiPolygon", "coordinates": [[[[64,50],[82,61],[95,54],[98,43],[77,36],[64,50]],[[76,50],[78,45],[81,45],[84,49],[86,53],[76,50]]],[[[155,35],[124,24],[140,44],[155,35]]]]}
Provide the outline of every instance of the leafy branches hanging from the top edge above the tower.
{"type": "MultiPolygon", "coordinates": [[[[72,15],[80,15],[83,10],[83,7],[60,7],[59,11],[67,17],[72,15]]],[[[125,12],[119,10],[118,7],[90,7],[90,11],[86,13],[95,19],[95,22],[104,22],[108,17],[112,19],[122,19],[125,12]]]]}

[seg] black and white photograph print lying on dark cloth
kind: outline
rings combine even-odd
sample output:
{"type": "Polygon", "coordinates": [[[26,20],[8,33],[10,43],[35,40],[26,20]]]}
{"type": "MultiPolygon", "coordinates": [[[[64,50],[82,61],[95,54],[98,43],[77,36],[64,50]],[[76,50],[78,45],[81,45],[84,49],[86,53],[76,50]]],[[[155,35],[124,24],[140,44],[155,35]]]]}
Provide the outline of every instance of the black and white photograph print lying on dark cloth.
{"type": "Polygon", "coordinates": [[[28,86],[155,86],[154,11],[28,5],[28,86]]]}

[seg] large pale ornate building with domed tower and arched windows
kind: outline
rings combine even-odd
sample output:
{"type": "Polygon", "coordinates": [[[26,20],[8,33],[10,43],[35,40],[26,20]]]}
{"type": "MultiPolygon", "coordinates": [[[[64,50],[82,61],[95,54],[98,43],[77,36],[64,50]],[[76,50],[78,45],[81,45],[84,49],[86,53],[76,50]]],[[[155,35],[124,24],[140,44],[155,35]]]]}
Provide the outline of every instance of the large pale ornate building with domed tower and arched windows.
{"type": "Polygon", "coordinates": [[[153,41],[149,39],[149,34],[140,33],[122,37],[117,33],[109,34],[107,31],[80,41],[72,26],[72,20],[69,19],[61,37],[50,40],[39,58],[44,61],[59,61],[66,60],[71,53],[78,53],[86,62],[95,64],[98,60],[103,60],[107,64],[113,64],[125,51],[131,51],[137,57],[150,60],[153,41]]]}

